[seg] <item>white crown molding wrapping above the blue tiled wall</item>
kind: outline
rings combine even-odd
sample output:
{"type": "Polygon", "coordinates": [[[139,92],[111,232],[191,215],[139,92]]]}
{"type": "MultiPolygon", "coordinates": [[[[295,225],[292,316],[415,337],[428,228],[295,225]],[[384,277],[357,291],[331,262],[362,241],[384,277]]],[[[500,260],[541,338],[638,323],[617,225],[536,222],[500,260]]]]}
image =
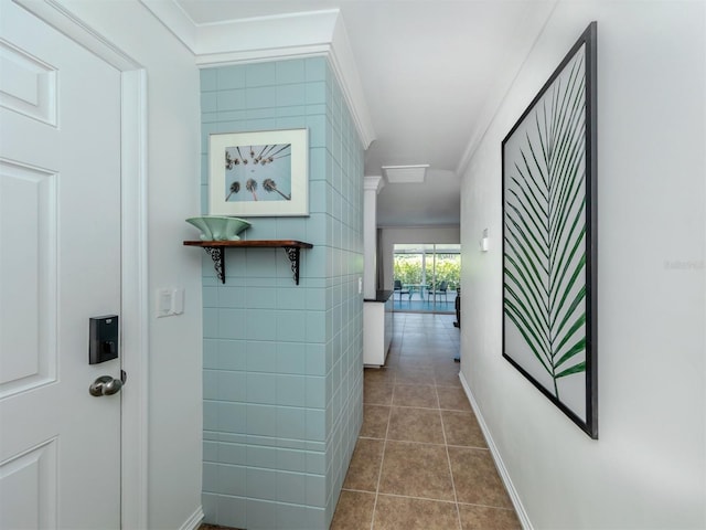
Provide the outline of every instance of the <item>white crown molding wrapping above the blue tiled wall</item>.
{"type": "Polygon", "coordinates": [[[194,54],[200,67],[328,57],[363,149],[375,139],[355,57],[338,9],[197,24],[174,0],[140,2],[194,54]]]}

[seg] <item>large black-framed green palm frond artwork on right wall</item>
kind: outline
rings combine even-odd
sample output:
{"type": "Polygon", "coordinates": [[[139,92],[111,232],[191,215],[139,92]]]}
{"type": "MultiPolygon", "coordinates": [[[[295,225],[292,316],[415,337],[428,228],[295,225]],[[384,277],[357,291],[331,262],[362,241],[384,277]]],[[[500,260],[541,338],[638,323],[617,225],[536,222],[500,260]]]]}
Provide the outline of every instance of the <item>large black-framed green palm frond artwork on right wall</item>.
{"type": "Polygon", "coordinates": [[[597,23],[502,141],[503,357],[598,438],[597,23]]]}

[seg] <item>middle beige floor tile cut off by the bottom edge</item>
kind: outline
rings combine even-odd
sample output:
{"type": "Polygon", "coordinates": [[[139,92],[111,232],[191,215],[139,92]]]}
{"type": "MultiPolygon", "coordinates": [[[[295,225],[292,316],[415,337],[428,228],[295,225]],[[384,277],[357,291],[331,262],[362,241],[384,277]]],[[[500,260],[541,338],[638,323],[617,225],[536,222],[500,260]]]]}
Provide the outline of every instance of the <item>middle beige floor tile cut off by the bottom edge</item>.
{"type": "Polygon", "coordinates": [[[453,502],[381,495],[375,530],[454,530],[459,518],[453,502]]]}

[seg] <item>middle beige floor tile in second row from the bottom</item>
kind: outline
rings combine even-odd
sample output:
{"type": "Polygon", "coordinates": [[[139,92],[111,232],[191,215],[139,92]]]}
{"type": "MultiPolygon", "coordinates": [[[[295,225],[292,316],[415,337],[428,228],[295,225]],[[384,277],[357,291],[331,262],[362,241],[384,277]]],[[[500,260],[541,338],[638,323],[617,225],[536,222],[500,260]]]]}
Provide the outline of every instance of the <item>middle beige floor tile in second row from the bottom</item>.
{"type": "Polygon", "coordinates": [[[446,447],[388,441],[378,491],[453,500],[446,447]]]}

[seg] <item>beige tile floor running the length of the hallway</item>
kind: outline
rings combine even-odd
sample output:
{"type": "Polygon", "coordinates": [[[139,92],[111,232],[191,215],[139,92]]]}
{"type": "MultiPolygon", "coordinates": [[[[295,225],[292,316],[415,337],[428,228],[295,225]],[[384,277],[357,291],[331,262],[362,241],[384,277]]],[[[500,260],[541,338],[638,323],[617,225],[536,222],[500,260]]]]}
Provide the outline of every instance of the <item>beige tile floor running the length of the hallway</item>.
{"type": "Polygon", "coordinates": [[[332,530],[522,528],[458,378],[454,320],[395,314],[332,530]]]}

